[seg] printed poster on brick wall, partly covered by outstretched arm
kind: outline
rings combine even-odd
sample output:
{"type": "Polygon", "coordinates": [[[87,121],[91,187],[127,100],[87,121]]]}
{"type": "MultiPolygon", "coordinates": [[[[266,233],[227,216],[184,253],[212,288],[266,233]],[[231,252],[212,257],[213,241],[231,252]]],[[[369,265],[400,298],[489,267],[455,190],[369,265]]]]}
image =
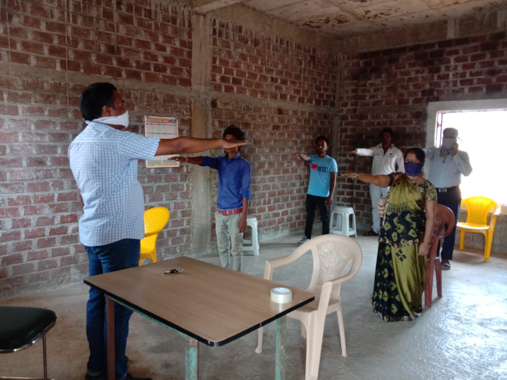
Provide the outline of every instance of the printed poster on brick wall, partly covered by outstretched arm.
{"type": "MultiPolygon", "coordinates": [[[[170,116],[144,116],[144,136],[158,138],[178,137],[178,119],[170,116]]],[[[146,160],[147,168],[179,167],[179,162],[169,156],[156,156],[146,160]]]]}

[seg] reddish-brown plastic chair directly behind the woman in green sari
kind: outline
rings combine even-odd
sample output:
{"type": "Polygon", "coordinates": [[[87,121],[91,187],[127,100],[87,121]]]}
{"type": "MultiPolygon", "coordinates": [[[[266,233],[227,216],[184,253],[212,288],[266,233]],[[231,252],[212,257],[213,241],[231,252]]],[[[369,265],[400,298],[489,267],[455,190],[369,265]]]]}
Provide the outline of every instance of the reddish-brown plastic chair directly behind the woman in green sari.
{"type": "Polygon", "coordinates": [[[435,225],[431,236],[428,253],[428,267],[426,269],[426,282],[424,284],[424,307],[431,308],[431,299],[433,294],[433,268],[437,279],[437,295],[442,298],[442,262],[437,257],[437,248],[439,241],[451,234],[456,217],[452,210],[444,205],[437,204],[435,215],[435,225]]]}

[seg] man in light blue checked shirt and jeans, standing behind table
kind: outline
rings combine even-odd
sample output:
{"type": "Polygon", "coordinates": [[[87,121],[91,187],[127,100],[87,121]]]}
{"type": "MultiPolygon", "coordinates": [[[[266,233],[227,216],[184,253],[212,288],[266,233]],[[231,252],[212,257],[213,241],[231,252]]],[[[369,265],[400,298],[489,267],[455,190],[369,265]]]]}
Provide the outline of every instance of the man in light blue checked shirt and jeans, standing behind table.
{"type": "MultiPolygon", "coordinates": [[[[128,111],[110,83],[94,83],[81,95],[79,107],[88,126],[68,149],[70,169],[83,198],[80,241],[88,253],[90,276],[136,267],[144,237],[144,197],[137,180],[137,161],[159,155],[231,148],[246,141],[177,137],[159,139],[126,132],[128,111]]],[[[127,373],[125,348],[132,311],[115,302],[117,380],[151,380],[127,373]]],[[[90,348],[85,380],[107,373],[104,294],[90,288],[86,334],[90,348]]]]}

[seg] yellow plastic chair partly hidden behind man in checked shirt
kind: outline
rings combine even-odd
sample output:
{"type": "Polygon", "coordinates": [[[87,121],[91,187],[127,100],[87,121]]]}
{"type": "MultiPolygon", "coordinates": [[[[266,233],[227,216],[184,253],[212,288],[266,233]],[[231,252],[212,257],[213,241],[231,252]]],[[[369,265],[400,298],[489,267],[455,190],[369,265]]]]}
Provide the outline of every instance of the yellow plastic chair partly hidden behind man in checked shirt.
{"type": "Polygon", "coordinates": [[[169,221],[170,212],[165,207],[153,207],[144,211],[144,239],[141,240],[141,256],[139,258],[139,267],[142,260],[151,258],[157,262],[156,243],[158,233],[162,231],[169,221]]]}

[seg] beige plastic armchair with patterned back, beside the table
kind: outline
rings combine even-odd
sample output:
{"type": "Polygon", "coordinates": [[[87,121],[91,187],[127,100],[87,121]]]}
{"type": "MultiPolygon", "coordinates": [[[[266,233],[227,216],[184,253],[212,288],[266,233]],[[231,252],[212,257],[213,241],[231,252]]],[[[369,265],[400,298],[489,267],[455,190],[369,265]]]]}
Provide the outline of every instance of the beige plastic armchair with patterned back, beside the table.
{"type": "MultiPolygon", "coordinates": [[[[343,235],[321,235],[300,245],[293,253],[266,260],[264,278],[273,279],[273,269],[297,260],[310,251],[313,255],[313,273],[308,291],[315,300],[287,316],[301,321],[301,336],[306,337],[305,379],[318,377],[320,350],[324,333],[325,316],[336,312],[340,330],[342,355],[347,356],[345,329],[340,300],[341,284],[354,277],[363,262],[363,252],[357,242],[343,235]]],[[[263,328],[259,329],[259,346],[262,352],[263,328]]]]}

